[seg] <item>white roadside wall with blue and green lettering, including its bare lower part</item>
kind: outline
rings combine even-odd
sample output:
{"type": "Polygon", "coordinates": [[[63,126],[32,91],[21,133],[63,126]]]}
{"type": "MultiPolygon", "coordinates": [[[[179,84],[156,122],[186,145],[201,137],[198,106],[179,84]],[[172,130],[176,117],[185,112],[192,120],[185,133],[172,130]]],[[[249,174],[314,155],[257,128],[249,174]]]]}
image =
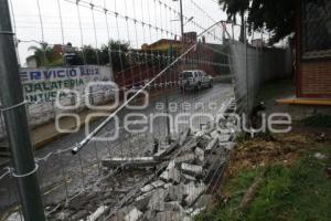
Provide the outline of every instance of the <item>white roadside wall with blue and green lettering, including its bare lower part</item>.
{"type": "MultiPolygon", "coordinates": [[[[84,97],[85,87],[89,82],[114,82],[111,67],[99,65],[21,69],[20,77],[25,99],[30,102],[28,115],[31,127],[54,120],[56,114],[62,112],[62,109],[54,108],[54,99],[58,91],[64,88],[75,90],[84,97]]],[[[94,90],[106,91],[102,86],[94,90]]],[[[63,94],[63,96],[65,95],[63,94]]],[[[95,104],[103,104],[110,98],[111,95],[109,94],[94,97],[95,104]]],[[[84,103],[82,106],[84,106],[84,103]]],[[[4,126],[1,124],[3,124],[2,120],[0,120],[0,139],[4,136],[4,126]]]]}

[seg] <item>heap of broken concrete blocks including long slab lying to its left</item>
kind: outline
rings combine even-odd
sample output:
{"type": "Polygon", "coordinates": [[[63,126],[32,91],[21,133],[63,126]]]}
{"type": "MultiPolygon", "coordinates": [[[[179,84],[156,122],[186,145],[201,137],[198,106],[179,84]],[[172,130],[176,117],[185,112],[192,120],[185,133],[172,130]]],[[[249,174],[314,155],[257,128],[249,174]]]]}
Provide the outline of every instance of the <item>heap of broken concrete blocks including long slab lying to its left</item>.
{"type": "MultiPolygon", "coordinates": [[[[234,112],[233,103],[228,101],[218,114],[234,112]]],[[[203,211],[220,187],[229,151],[235,146],[234,133],[223,130],[233,128],[233,119],[221,118],[217,129],[213,124],[195,134],[188,129],[171,144],[154,143],[153,150],[145,157],[103,160],[106,168],[151,173],[147,181],[128,191],[115,208],[105,210],[107,220],[190,221],[203,211]]]]}

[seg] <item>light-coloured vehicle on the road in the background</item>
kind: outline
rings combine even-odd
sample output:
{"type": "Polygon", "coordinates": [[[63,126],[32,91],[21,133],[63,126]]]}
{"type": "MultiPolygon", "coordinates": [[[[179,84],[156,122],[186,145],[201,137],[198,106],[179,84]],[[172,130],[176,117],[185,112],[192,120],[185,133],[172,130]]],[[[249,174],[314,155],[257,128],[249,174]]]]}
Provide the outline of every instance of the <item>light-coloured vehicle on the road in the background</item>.
{"type": "Polygon", "coordinates": [[[213,77],[202,70],[183,71],[179,76],[179,85],[182,92],[186,90],[201,90],[213,86],[213,77]]]}

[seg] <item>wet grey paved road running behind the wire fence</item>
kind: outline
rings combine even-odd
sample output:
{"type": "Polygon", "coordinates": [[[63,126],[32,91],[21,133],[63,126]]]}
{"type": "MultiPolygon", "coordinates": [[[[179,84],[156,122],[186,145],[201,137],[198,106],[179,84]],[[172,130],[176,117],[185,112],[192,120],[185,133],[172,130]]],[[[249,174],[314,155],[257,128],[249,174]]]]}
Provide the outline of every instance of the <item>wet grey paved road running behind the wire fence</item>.
{"type": "MultiPolygon", "coordinates": [[[[156,101],[151,101],[149,106],[141,110],[135,110],[149,118],[156,113],[163,113],[161,107],[164,105],[166,97],[170,104],[170,113],[173,117],[180,113],[189,113],[190,115],[201,112],[216,114],[217,107],[227,98],[233,96],[233,88],[229,84],[215,84],[213,88],[206,88],[200,92],[185,92],[181,94],[178,90],[168,94],[162,94],[156,101]],[[183,109],[183,104],[186,109],[183,109]],[[188,108],[191,104],[191,108],[188,108]]],[[[43,187],[45,204],[56,204],[65,196],[73,196],[83,187],[90,187],[99,177],[105,176],[102,169],[100,160],[108,156],[128,157],[128,156],[145,156],[152,149],[153,138],[158,138],[162,143],[167,135],[167,120],[164,117],[158,117],[149,124],[148,129],[153,129],[148,133],[132,135],[122,129],[122,122],[127,114],[132,110],[124,109],[119,113],[119,138],[108,141],[92,141],[73,156],[71,151],[56,154],[57,149],[72,147],[75,143],[81,141],[85,137],[85,129],[78,133],[70,134],[47,145],[45,148],[35,152],[36,158],[44,158],[40,162],[39,177],[43,187]],[[50,156],[46,157],[45,156],[50,156]],[[64,182],[66,180],[66,182],[64,182]]],[[[103,119],[93,123],[90,126],[95,128],[103,119]]],[[[204,122],[203,117],[195,118],[193,125],[199,127],[204,122]]],[[[182,125],[180,130],[188,125],[182,125]]],[[[135,125],[135,128],[142,126],[135,125]]],[[[98,134],[100,137],[107,137],[109,134],[118,129],[114,122],[98,134]]],[[[106,171],[107,173],[107,171],[106,171]]],[[[17,200],[14,192],[15,185],[11,179],[0,181],[0,214],[17,200]]]]}

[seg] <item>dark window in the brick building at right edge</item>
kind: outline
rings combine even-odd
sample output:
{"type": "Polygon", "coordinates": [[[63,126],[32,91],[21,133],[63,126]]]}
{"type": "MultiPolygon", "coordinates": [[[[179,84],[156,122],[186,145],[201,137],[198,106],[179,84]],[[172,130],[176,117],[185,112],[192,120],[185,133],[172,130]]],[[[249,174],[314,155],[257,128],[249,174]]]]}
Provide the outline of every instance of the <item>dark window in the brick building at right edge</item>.
{"type": "Polygon", "coordinates": [[[331,57],[331,1],[303,0],[301,8],[303,59],[331,57]]]}

